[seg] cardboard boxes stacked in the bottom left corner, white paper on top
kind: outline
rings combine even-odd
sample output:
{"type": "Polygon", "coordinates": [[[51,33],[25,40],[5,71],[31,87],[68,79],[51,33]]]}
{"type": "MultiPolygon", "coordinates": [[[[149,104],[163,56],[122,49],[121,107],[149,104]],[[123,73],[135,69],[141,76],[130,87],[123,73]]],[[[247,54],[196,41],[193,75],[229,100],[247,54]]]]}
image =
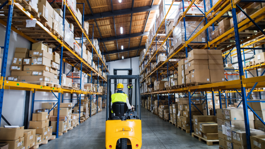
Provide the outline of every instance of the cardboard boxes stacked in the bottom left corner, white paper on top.
{"type": "MultiPolygon", "coordinates": [[[[8,149],[24,149],[24,126],[17,128],[0,128],[0,143],[9,144],[8,149]]],[[[35,140],[35,136],[33,136],[35,140]]],[[[33,139],[32,138],[32,139],[33,139]]],[[[25,147],[27,148],[27,147],[25,147]]],[[[28,149],[28,148],[27,148],[28,149]]]]}

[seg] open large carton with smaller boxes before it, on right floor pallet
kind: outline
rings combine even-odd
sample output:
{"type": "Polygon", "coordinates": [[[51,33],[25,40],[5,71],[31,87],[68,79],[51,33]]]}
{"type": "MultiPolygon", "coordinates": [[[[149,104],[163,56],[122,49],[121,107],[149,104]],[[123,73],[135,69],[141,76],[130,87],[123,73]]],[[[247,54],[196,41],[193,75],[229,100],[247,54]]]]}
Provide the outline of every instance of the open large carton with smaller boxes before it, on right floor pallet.
{"type": "Polygon", "coordinates": [[[207,140],[218,140],[218,124],[216,116],[194,115],[194,133],[207,140]]]}

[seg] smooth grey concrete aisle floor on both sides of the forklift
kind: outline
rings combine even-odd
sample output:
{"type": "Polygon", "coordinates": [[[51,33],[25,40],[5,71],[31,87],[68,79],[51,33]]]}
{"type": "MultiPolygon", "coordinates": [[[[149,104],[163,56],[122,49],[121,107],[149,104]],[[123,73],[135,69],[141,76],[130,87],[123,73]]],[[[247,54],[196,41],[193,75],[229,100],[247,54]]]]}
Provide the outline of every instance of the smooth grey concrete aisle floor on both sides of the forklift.
{"type": "MultiPolygon", "coordinates": [[[[60,138],[41,145],[39,149],[105,149],[106,112],[90,117],[73,130],[64,133],[60,138]]],[[[174,125],[163,121],[145,108],[141,107],[142,149],[218,149],[219,146],[208,146],[193,138],[174,125]]]]}

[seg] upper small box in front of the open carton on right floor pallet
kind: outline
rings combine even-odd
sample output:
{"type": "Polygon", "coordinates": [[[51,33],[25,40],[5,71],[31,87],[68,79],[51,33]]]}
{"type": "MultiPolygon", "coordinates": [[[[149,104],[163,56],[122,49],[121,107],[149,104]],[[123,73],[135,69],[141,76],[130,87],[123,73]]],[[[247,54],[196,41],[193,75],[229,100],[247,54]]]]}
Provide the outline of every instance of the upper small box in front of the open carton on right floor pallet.
{"type": "Polygon", "coordinates": [[[202,133],[218,133],[218,124],[215,122],[199,122],[198,128],[202,133]]]}

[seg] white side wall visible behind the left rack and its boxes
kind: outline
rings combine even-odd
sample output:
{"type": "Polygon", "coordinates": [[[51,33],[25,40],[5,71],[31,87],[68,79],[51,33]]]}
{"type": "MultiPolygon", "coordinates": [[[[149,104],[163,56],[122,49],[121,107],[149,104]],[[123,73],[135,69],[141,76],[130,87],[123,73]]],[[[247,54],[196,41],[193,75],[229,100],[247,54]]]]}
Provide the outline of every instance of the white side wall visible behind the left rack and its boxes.
{"type": "MultiPolygon", "coordinates": [[[[6,27],[4,25],[0,25],[0,32],[2,36],[0,36],[0,45],[4,46],[5,41],[5,32],[6,27]]],[[[11,62],[14,57],[14,52],[16,47],[28,48],[30,49],[30,41],[25,39],[24,37],[18,35],[16,32],[11,30],[10,36],[10,43],[8,49],[8,59],[7,59],[7,66],[6,66],[6,77],[10,76],[11,71],[11,62]]],[[[1,49],[1,58],[3,58],[3,49],[1,49]]],[[[65,65],[65,73],[68,73],[71,70],[72,66],[67,64],[65,65]]],[[[74,71],[78,71],[74,68],[74,71]]],[[[59,73],[59,72],[58,72],[59,73]]],[[[87,78],[85,77],[85,83],[87,78]]],[[[11,125],[19,125],[23,126],[24,122],[24,111],[25,111],[25,95],[26,91],[24,90],[4,90],[4,101],[3,101],[3,109],[2,115],[7,119],[7,121],[11,125]]],[[[55,93],[58,97],[58,93],[55,93]]],[[[81,98],[85,95],[81,95],[81,98]]],[[[71,94],[65,93],[64,99],[70,99],[71,94]]],[[[73,94],[73,99],[77,99],[76,95],[73,94]]],[[[35,93],[35,100],[57,100],[57,98],[51,92],[36,92],[35,93]]],[[[49,102],[49,101],[46,101],[49,102]]],[[[70,102],[66,100],[64,102],[70,102]]],[[[73,100],[74,103],[77,100],[73,100]]],[[[31,103],[32,103],[32,92],[30,93],[30,107],[29,107],[29,120],[31,119],[31,103]]],[[[42,102],[35,102],[34,103],[34,112],[37,109],[41,109],[42,102]]],[[[1,127],[7,125],[6,122],[2,119],[1,127]]]]}

